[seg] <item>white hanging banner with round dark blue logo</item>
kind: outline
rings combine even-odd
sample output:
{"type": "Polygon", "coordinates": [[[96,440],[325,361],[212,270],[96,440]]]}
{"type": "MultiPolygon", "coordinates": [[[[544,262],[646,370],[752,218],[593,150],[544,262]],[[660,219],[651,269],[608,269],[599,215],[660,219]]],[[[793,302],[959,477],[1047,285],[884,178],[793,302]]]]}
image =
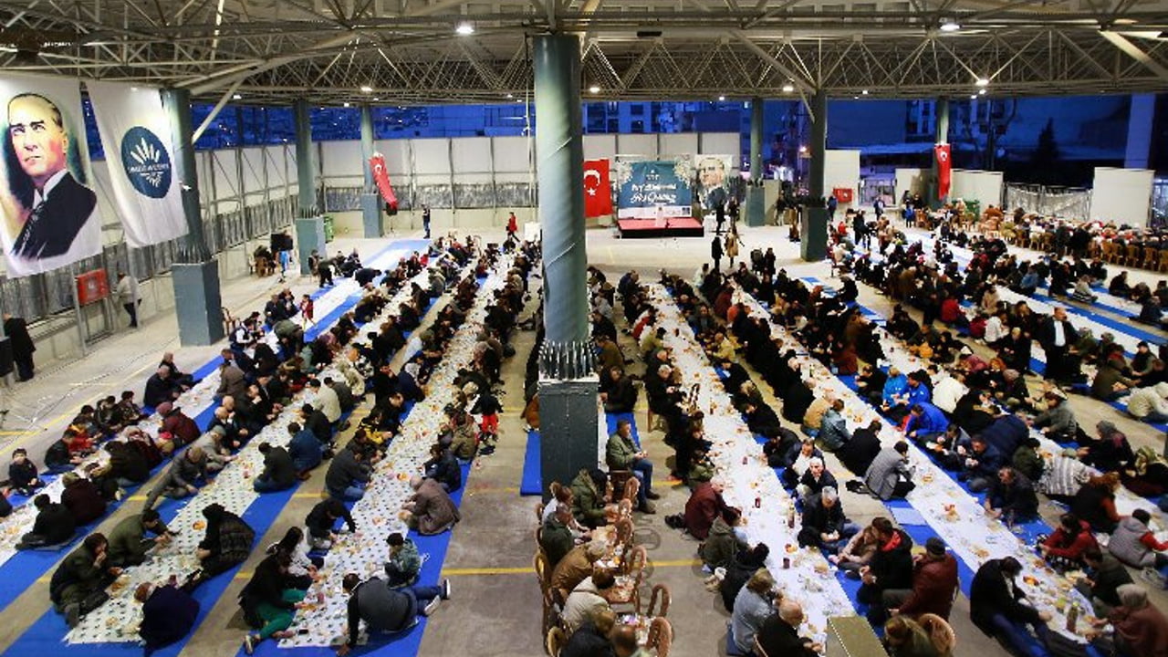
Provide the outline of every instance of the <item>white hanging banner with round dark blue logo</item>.
{"type": "Polygon", "coordinates": [[[141,248],[187,234],[171,119],[158,89],[86,81],[126,242],[141,248]]]}

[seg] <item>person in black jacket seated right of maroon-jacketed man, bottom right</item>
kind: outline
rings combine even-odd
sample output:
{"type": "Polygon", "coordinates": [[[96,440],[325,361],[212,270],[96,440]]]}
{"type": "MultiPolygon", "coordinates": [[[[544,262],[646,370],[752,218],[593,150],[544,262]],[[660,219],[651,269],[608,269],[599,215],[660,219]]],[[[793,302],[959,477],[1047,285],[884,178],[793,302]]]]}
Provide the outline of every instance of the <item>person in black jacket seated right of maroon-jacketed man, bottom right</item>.
{"type": "Polygon", "coordinates": [[[1045,643],[1051,616],[1023,602],[1026,593],[1014,581],[1021,572],[1022,565],[1013,556],[990,559],[978,568],[969,587],[969,618],[986,635],[1010,645],[1016,655],[1031,655],[1027,625],[1045,643]]]}

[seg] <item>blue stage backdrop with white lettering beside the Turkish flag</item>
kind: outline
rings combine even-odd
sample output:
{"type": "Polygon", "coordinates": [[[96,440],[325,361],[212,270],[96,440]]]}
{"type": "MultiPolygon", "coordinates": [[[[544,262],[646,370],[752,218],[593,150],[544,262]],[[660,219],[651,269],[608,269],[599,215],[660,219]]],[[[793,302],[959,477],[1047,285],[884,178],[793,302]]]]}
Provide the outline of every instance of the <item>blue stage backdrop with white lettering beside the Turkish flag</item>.
{"type": "Polygon", "coordinates": [[[670,216],[691,216],[693,177],[689,155],[673,160],[618,159],[618,217],[665,220],[670,216]]]}

